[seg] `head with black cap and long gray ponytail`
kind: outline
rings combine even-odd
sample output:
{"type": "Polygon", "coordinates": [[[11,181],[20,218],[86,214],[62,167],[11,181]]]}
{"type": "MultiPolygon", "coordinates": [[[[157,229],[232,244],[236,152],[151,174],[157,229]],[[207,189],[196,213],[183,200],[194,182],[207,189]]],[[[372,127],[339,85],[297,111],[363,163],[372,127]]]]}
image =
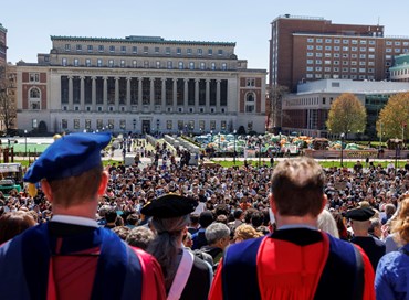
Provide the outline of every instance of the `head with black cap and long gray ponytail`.
{"type": "Polygon", "coordinates": [[[161,266],[166,289],[174,281],[182,237],[188,232],[190,213],[197,205],[198,202],[191,197],[166,194],[148,201],[140,210],[141,214],[151,216],[151,225],[157,233],[147,251],[161,266]]]}

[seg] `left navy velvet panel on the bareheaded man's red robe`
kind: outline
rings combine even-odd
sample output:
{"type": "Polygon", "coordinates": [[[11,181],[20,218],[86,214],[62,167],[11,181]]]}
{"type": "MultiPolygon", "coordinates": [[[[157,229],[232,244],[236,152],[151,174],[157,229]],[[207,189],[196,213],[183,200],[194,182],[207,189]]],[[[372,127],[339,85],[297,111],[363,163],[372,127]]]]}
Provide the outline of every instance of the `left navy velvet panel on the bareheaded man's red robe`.
{"type": "Polygon", "coordinates": [[[222,289],[224,300],[261,299],[256,260],[265,237],[231,245],[223,257],[222,289]],[[245,289],[241,288],[245,287],[245,289]]]}

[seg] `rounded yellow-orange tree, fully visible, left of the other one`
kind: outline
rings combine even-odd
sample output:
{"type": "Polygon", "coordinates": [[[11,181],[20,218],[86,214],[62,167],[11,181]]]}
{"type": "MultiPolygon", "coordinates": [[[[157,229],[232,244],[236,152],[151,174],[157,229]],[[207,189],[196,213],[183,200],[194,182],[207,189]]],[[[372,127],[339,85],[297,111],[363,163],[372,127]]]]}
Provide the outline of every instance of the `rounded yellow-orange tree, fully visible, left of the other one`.
{"type": "Polygon", "coordinates": [[[342,94],[331,105],[326,126],[332,133],[364,132],[366,109],[359,99],[349,93],[342,94]]]}

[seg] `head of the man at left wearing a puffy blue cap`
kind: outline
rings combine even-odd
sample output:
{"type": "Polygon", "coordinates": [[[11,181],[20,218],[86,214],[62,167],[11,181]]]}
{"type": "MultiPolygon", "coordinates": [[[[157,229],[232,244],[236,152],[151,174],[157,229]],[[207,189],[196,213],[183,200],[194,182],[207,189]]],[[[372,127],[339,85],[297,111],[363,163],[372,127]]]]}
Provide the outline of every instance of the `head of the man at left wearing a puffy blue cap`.
{"type": "Polygon", "coordinates": [[[109,143],[111,133],[71,133],[55,140],[24,175],[30,183],[41,182],[53,211],[61,212],[93,203],[92,210],[76,210],[95,216],[98,196],[108,182],[103,171],[101,151],[109,143]]]}

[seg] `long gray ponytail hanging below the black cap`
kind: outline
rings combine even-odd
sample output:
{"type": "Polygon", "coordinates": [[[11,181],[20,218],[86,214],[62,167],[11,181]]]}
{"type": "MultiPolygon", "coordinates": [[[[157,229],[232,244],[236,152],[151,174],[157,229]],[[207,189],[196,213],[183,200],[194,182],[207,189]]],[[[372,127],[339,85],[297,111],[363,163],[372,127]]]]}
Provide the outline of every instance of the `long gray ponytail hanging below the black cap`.
{"type": "Polygon", "coordinates": [[[149,244],[147,251],[158,260],[164,272],[166,289],[169,289],[174,281],[178,267],[177,256],[180,249],[181,234],[189,222],[189,215],[169,218],[151,218],[151,225],[155,227],[157,235],[149,244]]]}

